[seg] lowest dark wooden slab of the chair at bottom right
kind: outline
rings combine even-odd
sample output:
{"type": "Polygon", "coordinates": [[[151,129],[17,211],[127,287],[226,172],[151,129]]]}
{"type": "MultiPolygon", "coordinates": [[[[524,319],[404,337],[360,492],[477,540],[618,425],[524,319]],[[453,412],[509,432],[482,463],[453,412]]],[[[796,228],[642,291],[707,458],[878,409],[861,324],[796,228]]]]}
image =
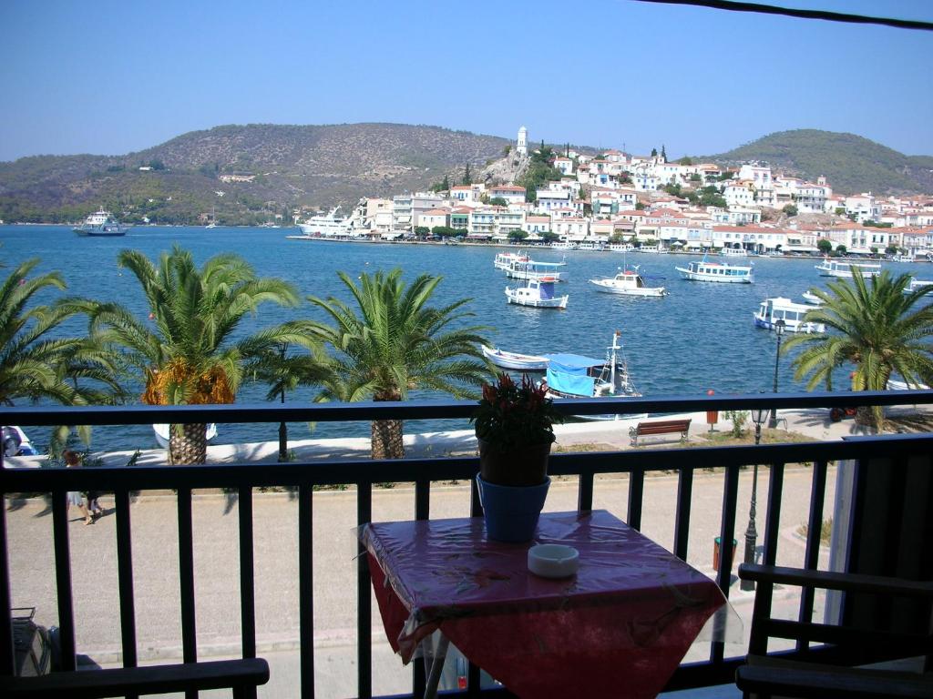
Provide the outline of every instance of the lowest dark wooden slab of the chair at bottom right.
{"type": "Polygon", "coordinates": [[[825,699],[829,696],[929,699],[933,695],[933,677],[928,675],[843,667],[835,667],[827,672],[743,665],[735,671],[735,684],[743,692],[801,699],[825,699]]]}

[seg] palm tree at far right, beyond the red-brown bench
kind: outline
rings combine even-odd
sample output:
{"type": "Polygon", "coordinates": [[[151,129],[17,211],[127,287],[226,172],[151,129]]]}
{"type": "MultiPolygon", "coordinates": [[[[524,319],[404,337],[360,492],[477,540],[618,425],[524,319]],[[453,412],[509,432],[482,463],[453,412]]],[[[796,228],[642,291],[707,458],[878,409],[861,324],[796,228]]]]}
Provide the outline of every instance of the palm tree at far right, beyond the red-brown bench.
{"type": "MultiPolygon", "coordinates": [[[[807,388],[819,384],[832,389],[832,372],[845,363],[855,365],[853,391],[884,391],[898,373],[908,383],[933,383],[933,305],[922,299],[933,287],[911,293],[904,289],[911,277],[893,277],[887,270],[866,281],[857,267],[851,282],[830,281],[829,291],[813,290],[823,304],[807,312],[806,321],[825,323],[828,334],[792,337],[783,351],[802,347],[794,358],[795,376],[807,377],[807,388]]],[[[884,425],[880,406],[871,410],[874,429],[884,425]]]]}

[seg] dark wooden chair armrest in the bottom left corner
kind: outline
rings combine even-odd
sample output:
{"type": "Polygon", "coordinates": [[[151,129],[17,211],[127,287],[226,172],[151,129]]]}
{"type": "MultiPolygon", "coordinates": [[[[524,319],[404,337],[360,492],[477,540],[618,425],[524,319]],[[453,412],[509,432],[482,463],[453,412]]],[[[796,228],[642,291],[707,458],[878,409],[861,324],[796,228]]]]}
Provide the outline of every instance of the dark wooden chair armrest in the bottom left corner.
{"type": "Polygon", "coordinates": [[[269,665],[262,658],[216,660],[206,663],[118,667],[104,670],[53,672],[33,678],[0,677],[0,695],[92,699],[128,694],[165,694],[230,687],[234,697],[255,696],[256,687],[269,681],[269,665]]]}

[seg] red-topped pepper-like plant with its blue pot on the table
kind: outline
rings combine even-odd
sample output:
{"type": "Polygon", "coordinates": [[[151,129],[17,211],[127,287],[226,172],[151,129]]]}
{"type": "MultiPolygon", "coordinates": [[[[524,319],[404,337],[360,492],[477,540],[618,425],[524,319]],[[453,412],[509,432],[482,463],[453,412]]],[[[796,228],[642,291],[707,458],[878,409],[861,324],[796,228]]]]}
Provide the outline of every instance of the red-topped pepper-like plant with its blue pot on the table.
{"type": "Polygon", "coordinates": [[[482,389],[470,421],[480,443],[480,489],[486,534],[496,541],[529,541],[548,496],[548,456],[554,422],[562,421],[547,388],[508,374],[482,389]]]}

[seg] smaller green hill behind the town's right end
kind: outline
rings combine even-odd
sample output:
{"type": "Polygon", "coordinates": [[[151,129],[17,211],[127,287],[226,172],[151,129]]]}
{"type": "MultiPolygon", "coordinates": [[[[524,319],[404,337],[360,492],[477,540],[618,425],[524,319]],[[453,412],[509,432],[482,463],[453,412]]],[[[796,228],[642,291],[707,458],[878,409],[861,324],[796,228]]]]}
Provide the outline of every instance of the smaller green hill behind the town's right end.
{"type": "Polygon", "coordinates": [[[779,131],[709,158],[723,164],[759,160],[811,180],[826,175],[840,194],[933,192],[933,158],[905,156],[854,133],[779,131]]]}

